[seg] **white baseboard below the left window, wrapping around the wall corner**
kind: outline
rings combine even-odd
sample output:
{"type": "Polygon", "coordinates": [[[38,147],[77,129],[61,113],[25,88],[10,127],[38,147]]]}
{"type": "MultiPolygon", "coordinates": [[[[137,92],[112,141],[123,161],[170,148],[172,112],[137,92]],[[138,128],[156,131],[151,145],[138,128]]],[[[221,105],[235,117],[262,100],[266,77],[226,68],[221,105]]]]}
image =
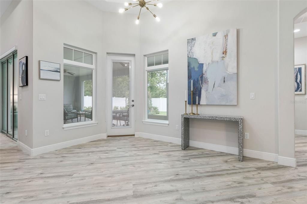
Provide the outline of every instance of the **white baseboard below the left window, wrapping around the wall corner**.
{"type": "Polygon", "coordinates": [[[39,155],[39,154],[42,154],[42,153],[51,152],[51,151],[54,151],[54,150],[57,150],[57,149],[63,149],[63,148],[66,148],[66,147],[79,145],[79,144],[91,142],[91,141],[94,141],[94,140],[106,139],[106,138],[107,138],[107,134],[97,134],[97,135],[92,135],[92,136],[85,137],[85,138],[70,140],[70,141],[61,142],[61,143],[57,143],[57,144],[53,144],[53,145],[47,145],[47,146],[38,147],[38,148],[34,148],[34,149],[31,149],[30,147],[28,147],[27,145],[23,144],[20,141],[17,141],[17,145],[25,153],[29,154],[30,156],[35,156],[35,155],[39,155]]]}

